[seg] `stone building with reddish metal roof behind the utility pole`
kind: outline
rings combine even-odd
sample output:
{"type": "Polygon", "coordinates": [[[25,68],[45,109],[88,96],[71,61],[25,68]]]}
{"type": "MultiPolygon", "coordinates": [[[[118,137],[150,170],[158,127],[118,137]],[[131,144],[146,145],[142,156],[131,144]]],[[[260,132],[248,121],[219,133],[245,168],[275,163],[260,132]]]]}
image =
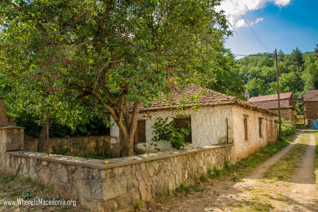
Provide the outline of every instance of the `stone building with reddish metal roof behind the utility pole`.
{"type": "MultiPolygon", "coordinates": [[[[266,96],[255,96],[248,100],[253,105],[259,105],[275,113],[278,113],[277,94],[266,96]]],[[[284,120],[290,120],[296,128],[295,103],[293,92],[280,93],[280,116],[284,120]]]]}

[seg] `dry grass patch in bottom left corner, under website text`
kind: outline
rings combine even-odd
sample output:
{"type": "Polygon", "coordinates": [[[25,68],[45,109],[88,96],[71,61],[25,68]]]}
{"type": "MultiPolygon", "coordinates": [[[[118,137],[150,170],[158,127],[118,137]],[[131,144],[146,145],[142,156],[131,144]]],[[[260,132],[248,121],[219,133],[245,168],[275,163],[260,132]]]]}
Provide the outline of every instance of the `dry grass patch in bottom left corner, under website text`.
{"type": "MultiPolygon", "coordinates": [[[[61,191],[62,193],[63,191],[61,191]]],[[[54,191],[52,188],[48,188],[41,184],[38,184],[34,181],[31,181],[29,178],[17,178],[14,176],[4,176],[0,175],[0,211],[11,212],[11,211],[54,211],[54,212],[84,212],[91,211],[86,207],[80,205],[76,201],[76,206],[73,205],[4,205],[3,201],[12,200],[17,201],[17,199],[23,198],[24,200],[37,200],[42,198],[43,200],[56,200],[66,198],[61,196],[58,192],[54,191]]],[[[70,199],[71,200],[71,199],[70,199]]],[[[100,211],[96,209],[94,211],[100,211]]]]}

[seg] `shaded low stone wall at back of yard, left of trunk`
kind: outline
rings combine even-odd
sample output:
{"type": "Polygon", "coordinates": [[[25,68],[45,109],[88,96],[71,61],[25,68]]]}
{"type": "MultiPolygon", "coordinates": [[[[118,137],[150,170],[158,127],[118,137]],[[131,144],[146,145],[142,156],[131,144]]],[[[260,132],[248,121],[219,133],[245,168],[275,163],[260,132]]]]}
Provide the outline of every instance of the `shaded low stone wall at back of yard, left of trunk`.
{"type": "MultiPolygon", "coordinates": [[[[64,137],[50,138],[50,152],[52,146],[58,147],[62,144],[64,148],[69,147],[71,154],[102,154],[104,145],[104,154],[111,154],[119,157],[119,141],[113,136],[83,136],[83,137],[64,137]]],[[[24,150],[37,151],[38,139],[30,138],[24,135],[24,150]]]]}

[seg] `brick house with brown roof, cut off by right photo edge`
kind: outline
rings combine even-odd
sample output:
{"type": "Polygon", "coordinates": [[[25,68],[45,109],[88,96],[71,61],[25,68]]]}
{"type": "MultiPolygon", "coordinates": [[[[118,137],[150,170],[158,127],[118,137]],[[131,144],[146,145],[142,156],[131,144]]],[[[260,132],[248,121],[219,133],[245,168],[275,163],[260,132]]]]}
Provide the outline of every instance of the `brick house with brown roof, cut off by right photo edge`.
{"type": "Polygon", "coordinates": [[[306,119],[318,119],[318,90],[306,91],[303,95],[306,119]]]}

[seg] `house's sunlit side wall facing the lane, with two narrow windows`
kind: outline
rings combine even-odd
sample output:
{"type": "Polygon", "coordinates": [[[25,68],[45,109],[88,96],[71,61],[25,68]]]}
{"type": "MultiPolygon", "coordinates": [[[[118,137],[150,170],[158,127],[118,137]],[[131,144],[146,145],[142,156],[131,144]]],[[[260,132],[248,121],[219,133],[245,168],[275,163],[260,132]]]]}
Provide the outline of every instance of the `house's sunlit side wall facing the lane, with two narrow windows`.
{"type": "MultiPolygon", "coordinates": [[[[233,122],[230,123],[234,143],[233,160],[239,161],[268,144],[277,140],[277,125],[274,116],[267,113],[233,106],[233,122]],[[245,140],[244,118],[247,118],[248,140],[245,140]],[[259,137],[259,118],[262,119],[262,137],[259,137]]],[[[231,134],[230,133],[230,134],[231,134]]]]}

